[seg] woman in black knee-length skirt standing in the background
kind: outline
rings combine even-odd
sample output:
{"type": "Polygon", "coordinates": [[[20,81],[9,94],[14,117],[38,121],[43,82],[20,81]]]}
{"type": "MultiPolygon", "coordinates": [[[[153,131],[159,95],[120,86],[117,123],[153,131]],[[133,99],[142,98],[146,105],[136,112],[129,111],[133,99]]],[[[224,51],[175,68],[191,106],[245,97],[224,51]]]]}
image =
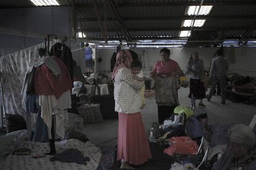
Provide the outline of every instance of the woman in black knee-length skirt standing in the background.
{"type": "Polygon", "coordinates": [[[198,105],[205,107],[203,99],[206,97],[205,86],[203,84],[203,60],[199,59],[198,52],[192,52],[189,63],[187,64],[186,73],[190,76],[189,98],[191,99],[190,108],[194,110],[195,100],[200,99],[198,105]]]}

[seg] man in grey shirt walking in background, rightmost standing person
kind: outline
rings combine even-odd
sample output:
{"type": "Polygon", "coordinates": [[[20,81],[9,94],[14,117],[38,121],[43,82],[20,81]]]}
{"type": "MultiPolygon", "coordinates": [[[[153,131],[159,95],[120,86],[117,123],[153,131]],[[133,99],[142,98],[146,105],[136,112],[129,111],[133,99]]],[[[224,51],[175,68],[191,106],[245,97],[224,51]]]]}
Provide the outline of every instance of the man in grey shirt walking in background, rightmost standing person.
{"type": "Polygon", "coordinates": [[[211,100],[211,96],[214,94],[216,85],[220,83],[221,87],[221,103],[226,103],[226,72],[228,71],[228,60],[224,58],[223,49],[216,51],[216,57],[211,61],[210,79],[212,78],[211,90],[207,95],[207,100],[211,100]]]}

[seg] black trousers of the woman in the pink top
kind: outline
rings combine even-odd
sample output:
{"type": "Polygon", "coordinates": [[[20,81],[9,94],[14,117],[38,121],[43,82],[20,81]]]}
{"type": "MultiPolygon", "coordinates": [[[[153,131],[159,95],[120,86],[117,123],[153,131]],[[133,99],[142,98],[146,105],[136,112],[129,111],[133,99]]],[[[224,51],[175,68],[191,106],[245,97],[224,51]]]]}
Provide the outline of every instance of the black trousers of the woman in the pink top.
{"type": "Polygon", "coordinates": [[[158,105],[158,123],[163,124],[163,121],[165,119],[168,119],[173,114],[174,108],[177,107],[177,105],[173,106],[160,106],[158,105]]]}

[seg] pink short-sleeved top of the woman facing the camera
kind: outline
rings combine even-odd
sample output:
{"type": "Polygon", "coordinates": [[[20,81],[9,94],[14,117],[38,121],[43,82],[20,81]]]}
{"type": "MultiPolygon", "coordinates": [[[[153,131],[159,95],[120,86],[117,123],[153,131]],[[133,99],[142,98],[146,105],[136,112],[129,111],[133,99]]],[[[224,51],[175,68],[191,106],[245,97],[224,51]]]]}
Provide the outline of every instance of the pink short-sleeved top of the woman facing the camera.
{"type": "Polygon", "coordinates": [[[153,73],[157,75],[171,75],[176,70],[179,70],[179,65],[176,61],[170,59],[167,65],[164,65],[163,61],[157,61],[153,68],[153,73]]]}

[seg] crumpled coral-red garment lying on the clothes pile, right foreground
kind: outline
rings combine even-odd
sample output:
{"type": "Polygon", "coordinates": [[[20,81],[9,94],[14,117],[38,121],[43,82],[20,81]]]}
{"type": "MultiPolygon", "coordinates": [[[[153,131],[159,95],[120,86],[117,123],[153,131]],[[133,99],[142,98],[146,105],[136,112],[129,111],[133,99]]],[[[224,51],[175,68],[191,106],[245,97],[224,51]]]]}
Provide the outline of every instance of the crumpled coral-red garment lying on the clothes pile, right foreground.
{"type": "Polygon", "coordinates": [[[184,155],[195,155],[198,150],[197,142],[187,136],[172,137],[170,139],[171,146],[164,150],[164,153],[173,156],[173,153],[184,155]]]}

